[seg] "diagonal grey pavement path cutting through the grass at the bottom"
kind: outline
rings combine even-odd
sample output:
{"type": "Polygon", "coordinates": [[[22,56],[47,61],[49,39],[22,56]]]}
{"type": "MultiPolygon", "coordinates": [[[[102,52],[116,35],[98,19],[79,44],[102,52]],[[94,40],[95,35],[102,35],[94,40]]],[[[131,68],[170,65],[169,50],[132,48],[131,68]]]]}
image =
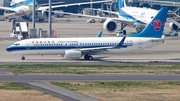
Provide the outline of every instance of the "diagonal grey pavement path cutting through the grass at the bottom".
{"type": "Polygon", "coordinates": [[[61,98],[66,101],[99,101],[97,99],[90,98],[88,96],[67,90],[65,88],[51,85],[50,83],[47,82],[18,82],[18,83],[30,87],[32,89],[43,91],[47,94],[51,94],[57,98],[61,98]]]}

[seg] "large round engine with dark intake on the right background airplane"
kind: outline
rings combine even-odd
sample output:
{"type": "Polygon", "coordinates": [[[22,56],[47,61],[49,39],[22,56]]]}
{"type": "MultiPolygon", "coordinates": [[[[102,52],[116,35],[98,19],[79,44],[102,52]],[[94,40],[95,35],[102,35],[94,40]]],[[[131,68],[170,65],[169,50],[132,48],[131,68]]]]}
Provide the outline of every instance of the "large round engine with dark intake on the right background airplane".
{"type": "Polygon", "coordinates": [[[117,24],[114,20],[112,19],[107,19],[104,24],[103,24],[103,28],[105,30],[107,30],[108,32],[112,33],[116,30],[117,28],[117,24]]]}

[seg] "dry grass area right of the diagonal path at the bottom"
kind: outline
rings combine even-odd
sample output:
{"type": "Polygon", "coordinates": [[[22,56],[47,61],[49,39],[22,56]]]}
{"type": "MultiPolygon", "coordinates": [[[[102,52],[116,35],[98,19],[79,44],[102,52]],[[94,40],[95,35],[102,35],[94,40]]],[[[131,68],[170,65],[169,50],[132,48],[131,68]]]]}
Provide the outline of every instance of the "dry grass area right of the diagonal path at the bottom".
{"type": "Polygon", "coordinates": [[[180,82],[50,82],[101,101],[180,101],[180,82]]]}

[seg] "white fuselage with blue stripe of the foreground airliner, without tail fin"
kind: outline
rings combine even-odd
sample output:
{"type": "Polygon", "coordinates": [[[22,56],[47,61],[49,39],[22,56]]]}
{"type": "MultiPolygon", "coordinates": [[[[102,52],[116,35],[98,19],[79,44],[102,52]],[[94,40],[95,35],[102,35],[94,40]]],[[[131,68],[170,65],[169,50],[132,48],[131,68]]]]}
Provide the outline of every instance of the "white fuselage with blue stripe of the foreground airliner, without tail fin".
{"type": "MultiPolygon", "coordinates": [[[[18,55],[59,55],[66,50],[93,49],[117,46],[118,38],[41,38],[27,39],[15,42],[6,48],[7,51],[18,55]]],[[[120,53],[152,47],[162,41],[152,42],[155,38],[126,37],[122,48],[110,48],[108,52],[120,53]]],[[[96,50],[94,50],[96,51],[96,50]]],[[[98,52],[97,52],[98,53],[98,52]]]]}

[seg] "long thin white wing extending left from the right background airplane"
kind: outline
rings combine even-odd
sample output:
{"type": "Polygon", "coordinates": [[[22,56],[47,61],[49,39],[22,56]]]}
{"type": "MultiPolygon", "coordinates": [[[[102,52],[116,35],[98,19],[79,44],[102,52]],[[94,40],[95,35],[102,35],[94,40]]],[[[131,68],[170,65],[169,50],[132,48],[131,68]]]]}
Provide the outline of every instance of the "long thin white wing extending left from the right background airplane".
{"type": "Polygon", "coordinates": [[[119,16],[118,18],[110,18],[110,17],[100,17],[100,16],[93,16],[93,15],[83,15],[83,14],[75,14],[75,13],[69,13],[69,12],[61,12],[63,14],[68,14],[68,15],[75,15],[75,16],[82,16],[82,17],[88,17],[88,18],[97,18],[97,19],[112,19],[114,21],[126,23],[126,24],[134,24],[133,20],[126,19],[124,17],[119,16]]]}

